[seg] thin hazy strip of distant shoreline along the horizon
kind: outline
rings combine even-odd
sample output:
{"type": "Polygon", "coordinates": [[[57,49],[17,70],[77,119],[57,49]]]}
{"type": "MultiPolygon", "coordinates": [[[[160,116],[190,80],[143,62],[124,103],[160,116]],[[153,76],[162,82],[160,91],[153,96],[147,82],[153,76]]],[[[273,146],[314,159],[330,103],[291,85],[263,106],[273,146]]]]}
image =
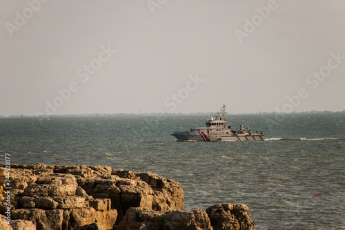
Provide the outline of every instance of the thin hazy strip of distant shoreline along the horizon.
{"type": "MultiPolygon", "coordinates": [[[[213,116],[214,112],[197,112],[197,113],[119,113],[119,114],[61,114],[61,115],[41,115],[41,116],[26,116],[26,115],[10,115],[10,116],[1,116],[0,118],[46,118],[46,117],[126,117],[126,116],[213,116]]],[[[278,112],[253,112],[253,113],[237,113],[237,114],[228,114],[228,115],[275,115],[275,114],[284,114],[278,112]]],[[[305,112],[290,112],[287,114],[345,114],[343,111],[305,111],[305,112]]]]}

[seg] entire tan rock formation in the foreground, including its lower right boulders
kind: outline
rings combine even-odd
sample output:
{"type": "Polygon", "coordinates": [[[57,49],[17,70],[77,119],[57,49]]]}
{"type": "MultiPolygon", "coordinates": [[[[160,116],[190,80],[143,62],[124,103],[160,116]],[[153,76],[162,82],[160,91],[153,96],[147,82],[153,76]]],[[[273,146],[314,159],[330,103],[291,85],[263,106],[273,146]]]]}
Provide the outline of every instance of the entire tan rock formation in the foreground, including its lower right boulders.
{"type": "Polygon", "coordinates": [[[150,172],[35,164],[6,176],[0,165],[0,229],[254,229],[246,205],[182,211],[179,182],[150,172]]]}

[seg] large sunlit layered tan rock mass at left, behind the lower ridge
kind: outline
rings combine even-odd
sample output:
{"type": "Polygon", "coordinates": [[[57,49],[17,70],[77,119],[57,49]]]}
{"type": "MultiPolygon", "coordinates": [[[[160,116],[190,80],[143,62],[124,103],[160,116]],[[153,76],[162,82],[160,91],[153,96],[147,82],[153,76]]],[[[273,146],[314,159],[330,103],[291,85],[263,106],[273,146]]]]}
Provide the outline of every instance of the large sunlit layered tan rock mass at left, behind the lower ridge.
{"type": "Polygon", "coordinates": [[[130,207],[159,211],[184,208],[179,182],[150,172],[108,166],[11,165],[9,180],[10,226],[6,224],[8,206],[3,193],[6,169],[0,165],[3,229],[113,229],[130,207]]]}

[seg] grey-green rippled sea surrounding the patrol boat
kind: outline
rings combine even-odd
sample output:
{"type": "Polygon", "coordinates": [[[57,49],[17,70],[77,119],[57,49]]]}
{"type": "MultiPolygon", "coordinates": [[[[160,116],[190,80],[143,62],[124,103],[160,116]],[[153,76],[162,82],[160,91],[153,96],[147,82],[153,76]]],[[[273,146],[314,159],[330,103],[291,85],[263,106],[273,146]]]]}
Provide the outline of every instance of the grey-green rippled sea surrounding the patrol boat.
{"type": "Polygon", "coordinates": [[[0,118],[0,156],[152,171],[181,182],[185,210],[242,202],[255,229],[345,229],[345,114],[228,117],[233,128],[263,130],[261,142],[170,136],[202,127],[206,118],[0,118]]]}

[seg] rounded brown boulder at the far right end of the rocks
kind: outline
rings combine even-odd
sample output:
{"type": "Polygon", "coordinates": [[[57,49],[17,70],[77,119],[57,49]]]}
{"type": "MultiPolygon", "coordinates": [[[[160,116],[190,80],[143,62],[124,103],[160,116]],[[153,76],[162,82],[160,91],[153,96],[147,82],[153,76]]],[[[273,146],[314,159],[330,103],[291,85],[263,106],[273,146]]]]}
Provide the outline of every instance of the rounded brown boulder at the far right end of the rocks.
{"type": "Polygon", "coordinates": [[[244,204],[220,204],[206,209],[215,230],[254,230],[255,222],[250,220],[249,208],[244,204]]]}

